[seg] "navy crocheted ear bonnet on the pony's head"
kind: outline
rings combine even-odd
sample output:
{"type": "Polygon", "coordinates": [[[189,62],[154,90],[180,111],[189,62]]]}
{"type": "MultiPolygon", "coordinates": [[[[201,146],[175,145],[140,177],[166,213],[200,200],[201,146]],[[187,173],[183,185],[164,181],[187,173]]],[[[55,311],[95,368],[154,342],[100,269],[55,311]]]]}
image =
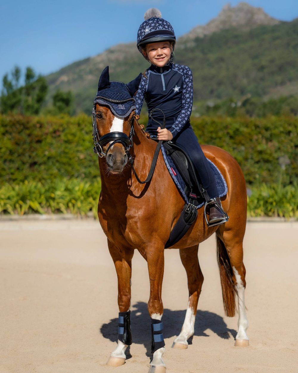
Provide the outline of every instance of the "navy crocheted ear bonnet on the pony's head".
{"type": "Polygon", "coordinates": [[[94,106],[96,104],[109,106],[111,112],[118,117],[124,118],[130,115],[133,110],[136,110],[133,96],[139,89],[141,78],[142,73],[127,84],[110,81],[109,66],[107,66],[99,78],[94,106]]]}

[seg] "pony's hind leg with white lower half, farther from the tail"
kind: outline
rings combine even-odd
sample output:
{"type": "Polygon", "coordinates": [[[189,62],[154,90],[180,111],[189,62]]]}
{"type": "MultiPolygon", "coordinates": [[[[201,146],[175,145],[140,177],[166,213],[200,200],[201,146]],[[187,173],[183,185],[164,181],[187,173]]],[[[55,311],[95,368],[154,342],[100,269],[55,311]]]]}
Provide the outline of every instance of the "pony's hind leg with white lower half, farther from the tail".
{"type": "Polygon", "coordinates": [[[204,280],[198,259],[198,248],[199,246],[195,245],[180,249],[180,258],[187,273],[189,299],[182,330],[178,337],[174,339],[172,348],[186,349],[188,346],[187,339],[194,334],[197,304],[204,280]]]}

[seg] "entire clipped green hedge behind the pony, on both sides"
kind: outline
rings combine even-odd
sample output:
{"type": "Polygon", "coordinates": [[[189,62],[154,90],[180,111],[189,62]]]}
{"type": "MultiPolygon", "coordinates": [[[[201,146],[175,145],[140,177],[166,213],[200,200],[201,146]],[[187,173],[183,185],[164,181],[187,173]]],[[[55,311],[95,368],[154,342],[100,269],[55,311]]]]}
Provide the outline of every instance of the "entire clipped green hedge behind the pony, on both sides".
{"type": "MultiPolygon", "coordinates": [[[[141,122],[145,122],[142,117],[141,122]]],[[[201,144],[222,147],[248,184],[293,183],[298,175],[297,117],[201,117],[191,124],[201,144]]],[[[99,176],[91,117],[0,115],[0,183],[99,176]]]]}

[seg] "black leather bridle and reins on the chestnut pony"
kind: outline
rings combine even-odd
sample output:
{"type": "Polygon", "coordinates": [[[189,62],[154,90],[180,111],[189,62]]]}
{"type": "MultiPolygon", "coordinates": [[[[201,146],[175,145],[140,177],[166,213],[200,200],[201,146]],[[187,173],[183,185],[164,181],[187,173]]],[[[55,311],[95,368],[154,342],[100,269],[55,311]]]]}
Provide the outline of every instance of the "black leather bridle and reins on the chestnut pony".
{"type": "MultiPolygon", "coordinates": [[[[151,110],[149,117],[152,117],[152,119],[161,126],[161,129],[165,128],[165,114],[161,109],[154,108],[153,110],[151,110]],[[154,119],[152,117],[152,114],[155,110],[161,111],[162,115],[164,116],[164,120],[162,122],[162,125],[161,125],[161,123],[159,123],[156,119],[154,119]]],[[[95,145],[94,148],[93,148],[93,151],[100,158],[102,158],[102,157],[107,157],[108,151],[110,150],[110,148],[114,144],[119,143],[119,144],[123,145],[125,153],[127,154],[129,163],[131,164],[131,168],[133,169],[134,176],[136,176],[136,179],[140,184],[146,184],[146,183],[148,183],[148,181],[151,180],[151,178],[153,176],[153,172],[155,170],[159,150],[161,149],[162,140],[158,141],[157,147],[156,147],[154,155],[153,155],[151,167],[150,167],[150,170],[149,170],[149,173],[148,173],[148,176],[147,176],[146,180],[141,181],[139,176],[137,175],[136,170],[134,169],[134,166],[133,166],[134,159],[129,152],[130,148],[133,145],[134,120],[136,120],[136,115],[133,115],[133,117],[131,118],[131,121],[130,121],[131,127],[130,127],[129,137],[126,134],[124,134],[123,132],[109,132],[109,133],[105,134],[104,136],[99,137],[98,129],[97,129],[97,126],[96,126],[96,113],[95,113],[95,109],[93,108],[93,110],[92,110],[92,126],[93,126],[92,136],[93,136],[93,141],[94,141],[94,145],[95,145]],[[108,142],[110,142],[111,144],[108,146],[107,150],[104,152],[103,147],[108,142]]]]}

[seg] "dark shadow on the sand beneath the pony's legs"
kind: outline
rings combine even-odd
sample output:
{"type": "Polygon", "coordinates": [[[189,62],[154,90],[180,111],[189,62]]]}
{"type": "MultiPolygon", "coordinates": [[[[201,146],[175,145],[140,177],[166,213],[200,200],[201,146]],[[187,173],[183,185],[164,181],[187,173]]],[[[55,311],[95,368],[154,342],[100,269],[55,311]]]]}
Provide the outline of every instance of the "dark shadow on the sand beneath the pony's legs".
{"type": "MultiPolygon", "coordinates": [[[[133,343],[143,344],[147,350],[146,355],[151,357],[151,323],[148,314],[147,303],[138,302],[134,304],[131,310],[131,332],[133,334],[133,343]]],[[[164,338],[171,338],[177,336],[182,328],[185,310],[171,311],[164,309],[162,321],[164,323],[164,338]]],[[[209,337],[206,330],[210,329],[216,333],[220,338],[229,339],[231,335],[236,337],[236,330],[229,329],[223,318],[216,313],[209,311],[197,311],[196,323],[194,325],[194,335],[209,337]]],[[[104,338],[110,339],[112,342],[117,342],[118,335],[118,318],[110,320],[109,323],[103,324],[100,328],[100,333],[104,338]]],[[[188,340],[191,344],[192,337],[188,340]]],[[[129,348],[126,350],[126,358],[131,357],[129,348]]]]}

